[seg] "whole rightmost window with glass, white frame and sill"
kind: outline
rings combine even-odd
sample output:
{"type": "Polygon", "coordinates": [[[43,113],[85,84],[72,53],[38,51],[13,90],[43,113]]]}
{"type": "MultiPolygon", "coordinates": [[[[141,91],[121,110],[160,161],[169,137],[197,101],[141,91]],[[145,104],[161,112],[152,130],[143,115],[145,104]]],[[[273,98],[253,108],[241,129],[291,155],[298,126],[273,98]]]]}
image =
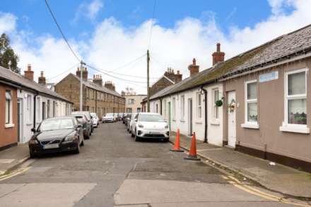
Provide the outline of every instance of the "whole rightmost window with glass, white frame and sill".
{"type": "Polygon", "coordinates": [[[284,122],[281,131],[309,134],[307,128],[307,69],[285,74],[284,122]]]}

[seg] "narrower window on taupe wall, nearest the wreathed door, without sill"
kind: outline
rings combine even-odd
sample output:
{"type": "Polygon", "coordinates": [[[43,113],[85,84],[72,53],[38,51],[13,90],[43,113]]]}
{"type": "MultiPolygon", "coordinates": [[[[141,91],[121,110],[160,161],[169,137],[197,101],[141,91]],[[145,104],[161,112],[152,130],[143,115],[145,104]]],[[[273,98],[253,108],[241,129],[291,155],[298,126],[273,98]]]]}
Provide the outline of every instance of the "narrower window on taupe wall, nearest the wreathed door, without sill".
{"type": "Polygon", "coordinates": [[[245,124],[257,124],[257,81],[245,83],[245,124]]]}

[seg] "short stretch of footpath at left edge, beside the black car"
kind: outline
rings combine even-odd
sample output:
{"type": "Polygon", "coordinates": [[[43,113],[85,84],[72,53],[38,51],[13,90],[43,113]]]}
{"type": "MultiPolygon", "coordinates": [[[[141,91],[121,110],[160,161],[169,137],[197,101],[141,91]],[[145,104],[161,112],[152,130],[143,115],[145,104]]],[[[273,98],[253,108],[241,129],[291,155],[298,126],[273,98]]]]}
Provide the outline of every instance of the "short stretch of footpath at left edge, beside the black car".
{"type": "Polygon", "coordinates": [[[0,151],[0,176],[7,174],[29,158],[28,143],[0,151]]]}

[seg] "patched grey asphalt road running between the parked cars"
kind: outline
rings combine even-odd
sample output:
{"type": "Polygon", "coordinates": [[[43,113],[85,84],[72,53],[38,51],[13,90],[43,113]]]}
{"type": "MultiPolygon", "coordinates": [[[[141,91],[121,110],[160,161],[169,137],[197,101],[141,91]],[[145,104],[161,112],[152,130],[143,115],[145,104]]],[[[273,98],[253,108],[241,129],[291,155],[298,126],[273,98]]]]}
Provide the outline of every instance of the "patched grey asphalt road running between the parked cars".
{"type": "Polygon", "coordinates": [[[30,160],[28,170],[1,181],[0,206],[293,206],[171,147],[135,142],[122,123],[100,124],[80,154],[30,160]]]}

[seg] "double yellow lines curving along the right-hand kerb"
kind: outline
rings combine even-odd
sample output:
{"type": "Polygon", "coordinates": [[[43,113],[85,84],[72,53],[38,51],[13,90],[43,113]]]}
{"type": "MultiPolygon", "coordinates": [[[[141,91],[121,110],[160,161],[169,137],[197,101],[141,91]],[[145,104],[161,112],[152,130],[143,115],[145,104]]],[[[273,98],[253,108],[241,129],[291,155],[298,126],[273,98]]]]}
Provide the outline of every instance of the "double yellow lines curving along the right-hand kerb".
{"type": "MultiPolygon", "coordinates": [[[[247,193],[262,197],[264,199],[268,199],[270,201],[278,201],[281,203],[286,203],[286,204],[291,204],[294,206],[303,206],[303,207],[310,207],[311,205],[308,204],[303,204],[303,203],[295,203],[292,201],[289,201],[287,199],[283,199],[281,197],[278,196],[274,196],[272,194],[267,194],[264,191],[260,191],[259,189],[254,189],[253,187],[247,186],[245,184],[242,184],[242,182],[240,182],[238,179],[236,179],[233,176],[228,176],[230,179],[232,179],[231,181],[228,181],[230,184],[232,184],[234,187],[237,187],[238,189],[241,189],[242,191],[246,191],[247,193]]],[[[228,179],[228,177],[223,176],[224,179],[228,179]]]]}

